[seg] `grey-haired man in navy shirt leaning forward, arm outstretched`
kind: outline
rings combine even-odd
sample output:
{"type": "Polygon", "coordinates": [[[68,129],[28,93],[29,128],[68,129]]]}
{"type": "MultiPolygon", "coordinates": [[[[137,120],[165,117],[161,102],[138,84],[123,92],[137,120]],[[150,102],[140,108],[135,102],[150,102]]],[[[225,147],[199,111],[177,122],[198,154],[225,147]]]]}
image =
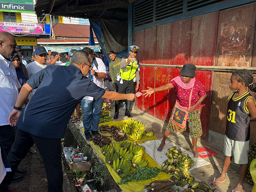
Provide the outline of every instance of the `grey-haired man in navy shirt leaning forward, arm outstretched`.
{"type": "MultiPolygon", "coordinates": [[[[74,52],[68,67],[49,65],[33,75],[22,87],[10,114],[10,125],[17,124],[15,142],[8,154],[12,171],[15,172],[35,143],[44,161],[48,192],[63,191],[61,138],[64,137],[69,117],[81,99],[85,96],[95,99],[135,99],[134,94],[119,94],[98,87],[85,76],[90,69],[91,62],[82,50],[74,52]],[[21,112],[30,91],[36,88],[37,91],[21,112]]],[[[3,182],[11,182],[10,177],[12,174],[5,176],[3,182]]]]}

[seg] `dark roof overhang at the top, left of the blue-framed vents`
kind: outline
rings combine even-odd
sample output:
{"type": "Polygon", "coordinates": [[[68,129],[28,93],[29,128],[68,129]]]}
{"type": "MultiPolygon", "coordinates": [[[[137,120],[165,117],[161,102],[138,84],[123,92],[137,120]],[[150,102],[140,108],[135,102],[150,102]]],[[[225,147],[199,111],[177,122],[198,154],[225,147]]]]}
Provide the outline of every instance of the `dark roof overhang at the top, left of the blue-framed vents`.
{"type": "Polygon", "coordinates": [[[51,7],[50,0],[37,0],[35,12],[42,14],[71,16],[76,18],[105,18],[113,20],[128,19],[128,1],[125,0],[56,0],[51,7]],[[76,7],[76,5],[78,7],[76,7]],[[90,6],[88,8],[88,6],[90,6]],[[52,11],[50,11],[52,8],[52,11]]]}

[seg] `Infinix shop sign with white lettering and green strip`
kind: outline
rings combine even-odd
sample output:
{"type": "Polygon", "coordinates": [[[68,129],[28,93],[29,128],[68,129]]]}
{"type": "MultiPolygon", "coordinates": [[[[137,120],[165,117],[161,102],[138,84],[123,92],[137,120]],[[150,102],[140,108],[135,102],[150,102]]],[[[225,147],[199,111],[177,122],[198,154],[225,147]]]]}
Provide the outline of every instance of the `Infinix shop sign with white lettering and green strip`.
{"type": "Polygon", "coordinates": [[[0,2],[0,11],[32,12],[32,13],[34,12],[34,4],[29,4],[26,1],[24,1],[23,3],[0,2]]]}

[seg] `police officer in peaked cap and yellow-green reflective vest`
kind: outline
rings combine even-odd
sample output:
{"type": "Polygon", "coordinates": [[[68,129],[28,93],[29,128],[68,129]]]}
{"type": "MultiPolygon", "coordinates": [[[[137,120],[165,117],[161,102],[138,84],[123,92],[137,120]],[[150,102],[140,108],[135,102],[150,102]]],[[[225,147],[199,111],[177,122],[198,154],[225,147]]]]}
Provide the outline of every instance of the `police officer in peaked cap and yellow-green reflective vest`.
{"type": "MultiPolygon", "coordinates": [[[[118,80],[118,92],[117,93],[133,93],[138,91],[139,83],[140,83],[140,64],[139,60],[136,59],[136,55],[138,52],[139,47],[132,45],[129,46],[130,48],[130,56],[127,59],[121,59],[120,65],[120,73],[117,74],[118,80]],[[135,88],[135,82],[136,88],[135,88]]],[[[126,109],[124,116],[132,117],[129,113],[131,101],[126,101],[126,109]]],[[[119,108],[120,108],[121,100],[115,101],[115,114],[114,119],[118,118],[119,108]]]]}

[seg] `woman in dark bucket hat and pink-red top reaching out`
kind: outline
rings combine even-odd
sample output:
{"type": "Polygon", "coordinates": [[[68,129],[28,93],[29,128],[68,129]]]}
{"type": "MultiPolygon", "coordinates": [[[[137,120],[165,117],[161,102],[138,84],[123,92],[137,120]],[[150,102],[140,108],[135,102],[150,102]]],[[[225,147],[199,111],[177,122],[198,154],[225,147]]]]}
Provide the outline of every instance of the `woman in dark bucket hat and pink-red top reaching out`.
{"type": "Polygon", "coordinates": [[[172,79],[170,83],[162,85],[157,88],[148,87],[148,90],[143,90],[145,97],[151,94],[175,88],[177,90],[176,104],[172,111],[172,116],[166,127],[162,142],[157,148],[162,151],[165,145],[165,140],[172,130],[175,132],[183,132],[186,130],[186,121],[188,121],[189,133],[192,137],[193,154],[195,158],[199,158],[199,153],[196,149],[197,138],[199,138],[203,131],[200,120],[201,103],[206,98],[206,90],[204,89],[200,80],[195,76],[196,66],[192,63],[187,63],[180,71],[180,76],[172,79]]]}

